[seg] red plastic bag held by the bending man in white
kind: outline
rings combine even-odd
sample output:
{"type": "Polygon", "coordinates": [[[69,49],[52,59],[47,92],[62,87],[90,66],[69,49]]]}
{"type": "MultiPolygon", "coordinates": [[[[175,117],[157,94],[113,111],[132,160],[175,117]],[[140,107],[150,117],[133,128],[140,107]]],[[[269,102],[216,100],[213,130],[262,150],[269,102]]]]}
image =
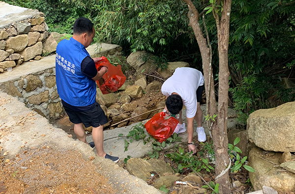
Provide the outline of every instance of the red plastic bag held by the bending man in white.
{"type": "Polygon", "coordinates": [[[145,125],[148,134],[161,143],[173,134],[178,124],[176,118],[165,119],[164,116],[164,112],[157,113],[145,125]]]}

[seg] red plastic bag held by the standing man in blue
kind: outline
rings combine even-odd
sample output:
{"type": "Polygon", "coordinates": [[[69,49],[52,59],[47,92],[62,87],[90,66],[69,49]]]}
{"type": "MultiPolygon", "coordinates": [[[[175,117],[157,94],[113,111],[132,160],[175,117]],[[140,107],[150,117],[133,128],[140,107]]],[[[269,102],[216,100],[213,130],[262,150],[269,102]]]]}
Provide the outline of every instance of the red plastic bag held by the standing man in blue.
{"type": "Polygon", "coordinates": [[[126,81],[126,76],[121,70],[121,65],[112,65],[106,57],[101,57],[101,59],[101,61],[95,63],[96,69],[99,71],[101,67],[106,66],[108,67],[108,72],[100,80],[97,80],[96,83],[102,94],[106,95],[118,91],[126,81]]]}

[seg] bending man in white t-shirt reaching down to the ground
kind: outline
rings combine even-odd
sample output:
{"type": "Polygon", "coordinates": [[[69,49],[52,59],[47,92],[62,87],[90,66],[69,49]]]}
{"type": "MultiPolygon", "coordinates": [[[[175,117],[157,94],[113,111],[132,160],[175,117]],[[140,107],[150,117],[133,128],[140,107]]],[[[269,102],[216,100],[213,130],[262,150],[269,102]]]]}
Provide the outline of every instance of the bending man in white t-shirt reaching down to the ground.
{"type": "Polygon", "coordinates": [[[202,72],[190,67],[178,67],[173,75],[162,85],[162,93],[166,98],[166,114],[177,115],[178,125],[175,132],[185,132],[185,124],[182,123],[181,109],[186,107],[188,149],[197,152],[193,144],[194,119],[198,124],[198,140],[206,141],[206,133],[203,128],[203,112],[200,107],[200,101],[204,90],[204,76],[202,72]]]}

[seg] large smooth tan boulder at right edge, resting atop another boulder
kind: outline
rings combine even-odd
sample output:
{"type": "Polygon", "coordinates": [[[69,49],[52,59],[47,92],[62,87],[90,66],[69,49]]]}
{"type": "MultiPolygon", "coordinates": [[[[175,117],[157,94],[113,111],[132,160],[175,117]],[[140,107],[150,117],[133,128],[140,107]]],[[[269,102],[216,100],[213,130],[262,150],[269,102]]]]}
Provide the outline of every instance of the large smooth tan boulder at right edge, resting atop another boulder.
{"type": "Polygon", "coordinates": [[[287,102],[254,111],[247,120],[249,140],[266,151],[295,152],[294,110],[295,102],[287,102]]]}

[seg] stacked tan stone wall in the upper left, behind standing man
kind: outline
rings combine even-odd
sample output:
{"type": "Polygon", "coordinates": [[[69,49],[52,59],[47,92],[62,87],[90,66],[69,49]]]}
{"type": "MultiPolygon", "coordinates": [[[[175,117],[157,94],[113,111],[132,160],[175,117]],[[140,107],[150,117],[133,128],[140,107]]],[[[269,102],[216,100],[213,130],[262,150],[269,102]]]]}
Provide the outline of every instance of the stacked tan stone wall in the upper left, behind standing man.
{"type": "Polygon", "coordinates": [[[42,54],[56,51],[57,42],[48,32],[44,14],[12,22],[0,28],[0,73],[8,67],[30,60],[40,60],[42,54]]]}

